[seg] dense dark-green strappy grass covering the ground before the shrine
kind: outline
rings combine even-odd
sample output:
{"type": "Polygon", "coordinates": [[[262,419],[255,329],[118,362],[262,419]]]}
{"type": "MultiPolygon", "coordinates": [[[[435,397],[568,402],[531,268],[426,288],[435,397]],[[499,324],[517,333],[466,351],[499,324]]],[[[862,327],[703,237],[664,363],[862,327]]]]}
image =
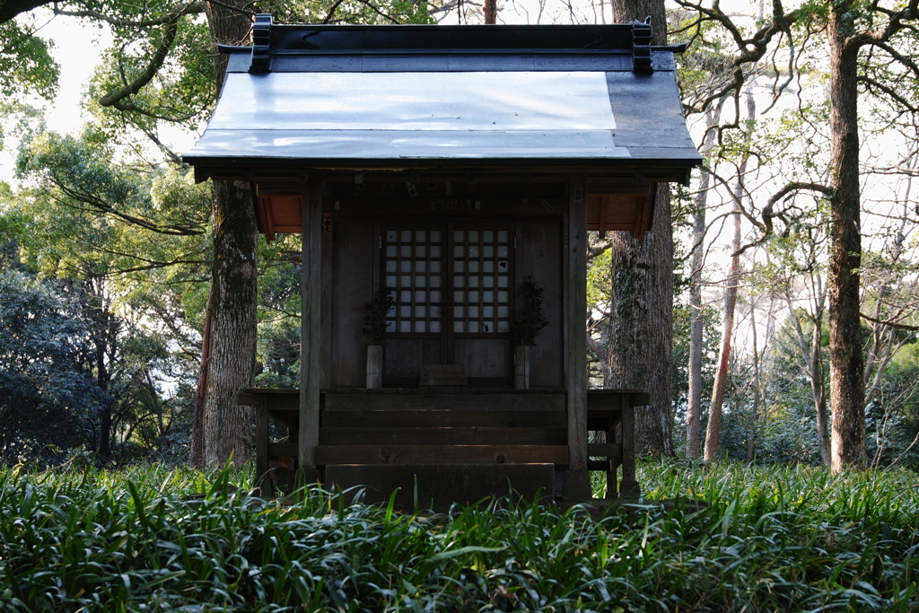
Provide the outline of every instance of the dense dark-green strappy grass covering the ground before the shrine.
{"type": "Polygon", "coordinates": [[[247,496],[251,472],[0,471],[0,606],[36,611],[909,611],[906,471],[645,461],[649,502],[448,516],[247,496]],[[238,488],[238,489],[237,489],[238,488]],[[192,496],[203,493],[201,496],[192,496]],[[693,510],[653,504],[688,496],[693,510]]]}

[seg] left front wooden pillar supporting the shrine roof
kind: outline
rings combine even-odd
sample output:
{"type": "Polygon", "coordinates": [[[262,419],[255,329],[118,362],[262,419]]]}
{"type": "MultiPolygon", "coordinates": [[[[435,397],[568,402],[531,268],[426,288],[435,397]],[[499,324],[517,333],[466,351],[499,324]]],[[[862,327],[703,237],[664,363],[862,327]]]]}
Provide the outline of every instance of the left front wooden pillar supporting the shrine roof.
{"type": "Polygon", "coordinates": [[[311,176],[303,186],[302,267],[301,267],[301,367],[300,367],[300,433],[298,458],[300,482],[319,477],[316,447],[319,445],[320,390],[322,365],[322,186],[311,176]]]}

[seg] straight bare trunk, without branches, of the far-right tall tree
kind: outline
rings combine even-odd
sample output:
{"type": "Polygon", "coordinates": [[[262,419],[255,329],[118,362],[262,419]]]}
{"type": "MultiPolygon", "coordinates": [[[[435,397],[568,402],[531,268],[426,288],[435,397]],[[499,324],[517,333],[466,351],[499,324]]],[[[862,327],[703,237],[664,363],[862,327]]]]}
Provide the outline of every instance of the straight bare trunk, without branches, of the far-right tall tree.
{"type": "Polygon", "coordinates": [[[857,40],[851,2],[830,4],[830,132],[833,196],[830,207],[830,405],[834,472],[864,464],[865,386],[858,314],[861,266],[858,186],[857,40]]]}

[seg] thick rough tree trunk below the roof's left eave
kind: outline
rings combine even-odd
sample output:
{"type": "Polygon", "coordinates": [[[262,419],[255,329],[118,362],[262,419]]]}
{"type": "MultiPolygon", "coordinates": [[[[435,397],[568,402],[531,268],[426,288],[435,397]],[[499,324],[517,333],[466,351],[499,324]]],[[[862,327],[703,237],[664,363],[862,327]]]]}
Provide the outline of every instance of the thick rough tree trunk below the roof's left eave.
{"type": "Polygon", "coordinates": [[[210,279],[211,346],[204,405],[204,459],[208,466],[247,459],[253,434],[251,407],[236,394],[252,385],[255,370],[257,228],[250,187],[214,181],[214,263],[210,279]]]}

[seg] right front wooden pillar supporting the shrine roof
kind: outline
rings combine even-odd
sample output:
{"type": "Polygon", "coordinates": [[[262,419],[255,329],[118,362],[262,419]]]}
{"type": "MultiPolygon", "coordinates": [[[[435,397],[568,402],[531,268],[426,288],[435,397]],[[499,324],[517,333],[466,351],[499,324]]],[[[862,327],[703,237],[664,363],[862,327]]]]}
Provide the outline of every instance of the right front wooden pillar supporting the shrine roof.
{"type": "Polygon", "coordinates": [[[568,390],[568,472],[563,495],[573,502],[589,499],[590,473],[587,471],[587,338],[584,318],[587,313],[587,198],[584,180],[569,187],[567,261],[567,369],[568,390]],[[574,499],[574,500],[573,500],[574,499]]]}

